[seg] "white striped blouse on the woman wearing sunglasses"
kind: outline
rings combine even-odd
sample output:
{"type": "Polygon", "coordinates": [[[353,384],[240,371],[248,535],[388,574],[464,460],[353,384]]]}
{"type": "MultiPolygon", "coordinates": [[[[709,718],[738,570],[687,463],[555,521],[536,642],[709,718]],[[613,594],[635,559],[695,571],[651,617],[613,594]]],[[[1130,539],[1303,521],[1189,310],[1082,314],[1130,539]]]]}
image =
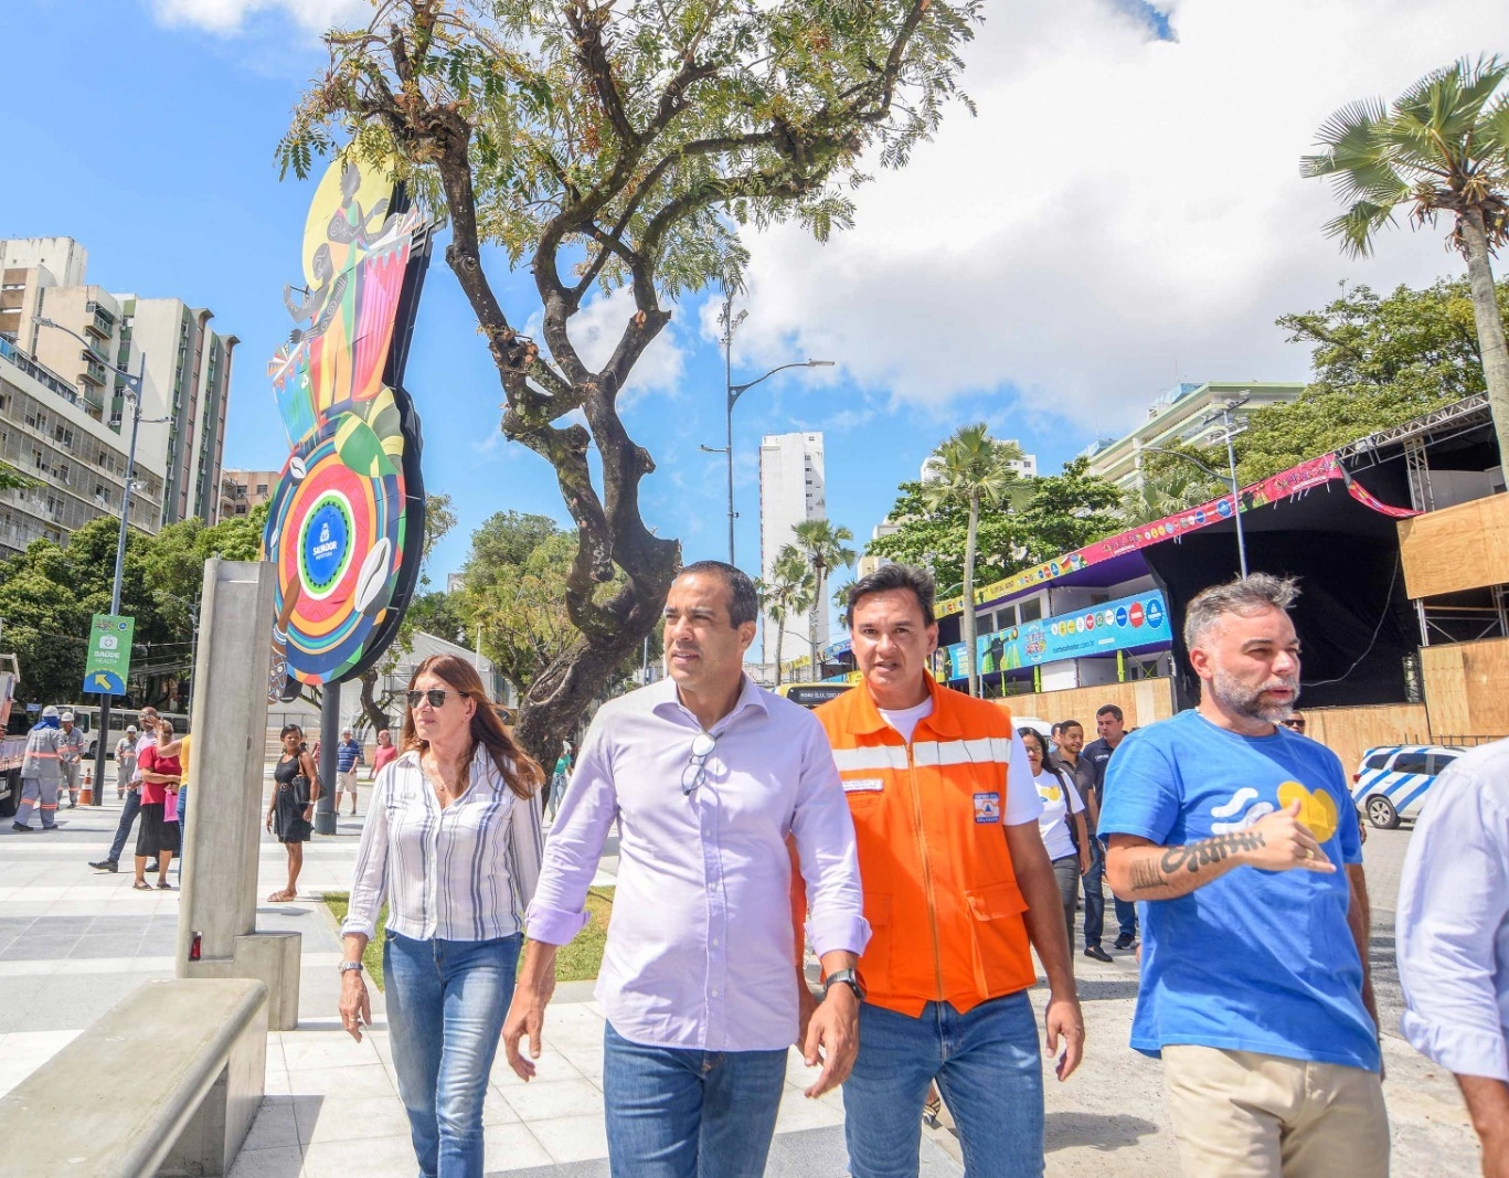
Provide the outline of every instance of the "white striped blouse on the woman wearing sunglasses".
{"type": "Polygon", "coordinates": [[[403,937],[512,937],[524,931],[543,846],[539,795],[510,790],[486,748],[444,810],[410,750],[377,774],[341,932],[373,937],[386,899],[388,928],[403,937]]]}

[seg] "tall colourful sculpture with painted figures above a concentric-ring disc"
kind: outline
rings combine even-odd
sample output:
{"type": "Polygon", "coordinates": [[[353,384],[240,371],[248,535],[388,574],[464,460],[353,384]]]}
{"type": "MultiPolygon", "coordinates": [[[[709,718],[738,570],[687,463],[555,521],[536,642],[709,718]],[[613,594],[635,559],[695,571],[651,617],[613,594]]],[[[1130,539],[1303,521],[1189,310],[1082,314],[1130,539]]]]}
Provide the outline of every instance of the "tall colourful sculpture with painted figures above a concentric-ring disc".
{"type": "Polygon", "coordinates": [[[392,344],[412,323],[429,226],[391,213],[395,198],[332,164],[309,210],[309,285],[284,293],[300,327],[269,365],[290,443],[263,534],[278,567],[270,697],[367,670],[418,576],[420,424],[392,344]]]}

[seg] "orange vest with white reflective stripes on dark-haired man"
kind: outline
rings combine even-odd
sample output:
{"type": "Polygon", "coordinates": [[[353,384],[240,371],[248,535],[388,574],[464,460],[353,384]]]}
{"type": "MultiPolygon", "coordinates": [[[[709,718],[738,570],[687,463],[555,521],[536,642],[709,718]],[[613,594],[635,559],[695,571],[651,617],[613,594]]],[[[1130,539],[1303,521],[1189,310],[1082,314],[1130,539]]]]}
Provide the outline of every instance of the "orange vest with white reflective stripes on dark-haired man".
{"type": "Polygon", "coordinates": [[[927,683],[933,715],[910,744],[865,685],[816,709],[859,836],[868,1000],[913,1018],[928,1002],[964,1012],[1037,980],[1002,825],[1011,713],[927,683]]]}

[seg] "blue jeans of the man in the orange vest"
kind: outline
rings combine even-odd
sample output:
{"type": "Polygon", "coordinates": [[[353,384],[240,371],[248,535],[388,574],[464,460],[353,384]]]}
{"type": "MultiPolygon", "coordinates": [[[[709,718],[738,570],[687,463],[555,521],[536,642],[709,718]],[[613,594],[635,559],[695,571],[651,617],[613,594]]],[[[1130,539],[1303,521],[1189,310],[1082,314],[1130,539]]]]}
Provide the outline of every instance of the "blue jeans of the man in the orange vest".
{"type": "Polygon", "coordinates": [[[922,1103],[937,1080],[967,1178],[1043,1173],[1043,1059],[1026,991],[961,1015],[930,1002],[919,1018],[862,1003],[859,1059],[844,1084],[854,1178],[916,1178],[922,1103]]]}

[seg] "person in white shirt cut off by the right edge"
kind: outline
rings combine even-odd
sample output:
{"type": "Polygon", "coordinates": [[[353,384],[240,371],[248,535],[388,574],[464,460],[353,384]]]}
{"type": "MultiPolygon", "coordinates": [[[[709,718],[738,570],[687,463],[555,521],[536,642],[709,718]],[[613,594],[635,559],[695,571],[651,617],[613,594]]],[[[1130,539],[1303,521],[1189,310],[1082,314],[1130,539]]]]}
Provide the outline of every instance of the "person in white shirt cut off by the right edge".
{"type": "Polygon", "coordinates": [[[1394,934],[1399,1029],[1456,1075],[1483,1175],[1509,1178],[1509,741],[1464,753],[1431,786],[1394,934]]]}

